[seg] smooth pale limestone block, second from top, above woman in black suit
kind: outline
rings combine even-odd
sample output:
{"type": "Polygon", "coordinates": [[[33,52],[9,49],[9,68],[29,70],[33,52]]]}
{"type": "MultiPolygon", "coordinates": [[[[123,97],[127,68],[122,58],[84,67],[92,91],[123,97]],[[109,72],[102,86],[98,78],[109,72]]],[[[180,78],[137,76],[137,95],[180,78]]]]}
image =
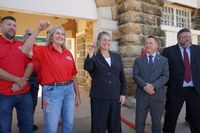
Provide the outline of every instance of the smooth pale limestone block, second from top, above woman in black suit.
{"type": "Polygon", "coordinates": [[[111,7],[99,7],[97,9],[99,19],[112,20],[112,10],[111,7]]]}

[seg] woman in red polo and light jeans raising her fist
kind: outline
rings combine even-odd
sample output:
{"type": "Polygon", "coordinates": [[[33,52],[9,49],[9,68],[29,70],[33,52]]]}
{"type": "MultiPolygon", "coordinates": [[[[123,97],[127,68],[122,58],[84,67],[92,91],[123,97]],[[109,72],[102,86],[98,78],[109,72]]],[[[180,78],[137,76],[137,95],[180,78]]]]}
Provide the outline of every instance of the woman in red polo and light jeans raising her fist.
{"type": "Polygon", "coordinates": [[[23,52],[33,50],[33,58],[41,65],[45,133],[57,133],[59,118],[62,132],[72,133],[74,105],[80,105],[77,69],[73,56],[65,47],[66,35],[62,26],[54,26],[47,37],[47,46],[34,45],[37,35],[49,26],[40,21],[37,29],[25,42],[23,52]],[[75,96],[74,96],[75,92],[75,96]]]}

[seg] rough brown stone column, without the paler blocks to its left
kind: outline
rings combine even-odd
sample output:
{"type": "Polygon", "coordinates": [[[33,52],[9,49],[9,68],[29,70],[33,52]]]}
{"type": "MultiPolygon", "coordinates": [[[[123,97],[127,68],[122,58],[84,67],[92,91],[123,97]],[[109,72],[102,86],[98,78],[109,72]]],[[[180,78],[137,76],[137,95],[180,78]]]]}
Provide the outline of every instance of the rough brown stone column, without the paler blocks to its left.
{"type": "MultiPolygon", "coordinates": [[[[161,30],[164,0],[118,0],[119,53],[125,67],[127,95],[135,94],[132,67],[135,58],[143,49],[145,37],[156,36],[165,46],[165,34],[161,30]]],[[[116,32],[117,34],[117,32],[116,32]]]]}

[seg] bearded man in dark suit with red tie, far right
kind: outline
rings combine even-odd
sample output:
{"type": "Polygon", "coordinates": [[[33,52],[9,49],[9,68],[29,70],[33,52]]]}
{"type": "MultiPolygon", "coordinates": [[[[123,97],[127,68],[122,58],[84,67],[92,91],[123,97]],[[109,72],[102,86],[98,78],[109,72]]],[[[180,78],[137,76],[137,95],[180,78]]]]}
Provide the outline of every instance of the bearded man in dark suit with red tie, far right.
{"type": "Polygon", "coordinates": [[[163,132],[175,132],[185,101],[190,130],[200,133],[200,47],[192,45],[192,35],[187,28],[178,32],[177,40],[177,45],[165,48],[162,53],[168,58],[170,71],[163,132]]]}

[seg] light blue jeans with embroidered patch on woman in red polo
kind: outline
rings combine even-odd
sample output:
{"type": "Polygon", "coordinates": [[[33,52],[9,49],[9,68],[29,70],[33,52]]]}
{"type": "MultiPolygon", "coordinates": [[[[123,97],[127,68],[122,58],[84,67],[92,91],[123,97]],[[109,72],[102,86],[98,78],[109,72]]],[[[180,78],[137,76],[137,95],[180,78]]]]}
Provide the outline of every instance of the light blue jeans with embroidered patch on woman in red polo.
{"type": "Polygon", "coordinates": [[[43,111],[45,133],[57,133],[60,115],[62,115],[62,133],[73,132],[74,86],[43,86],[43,111]]]}

